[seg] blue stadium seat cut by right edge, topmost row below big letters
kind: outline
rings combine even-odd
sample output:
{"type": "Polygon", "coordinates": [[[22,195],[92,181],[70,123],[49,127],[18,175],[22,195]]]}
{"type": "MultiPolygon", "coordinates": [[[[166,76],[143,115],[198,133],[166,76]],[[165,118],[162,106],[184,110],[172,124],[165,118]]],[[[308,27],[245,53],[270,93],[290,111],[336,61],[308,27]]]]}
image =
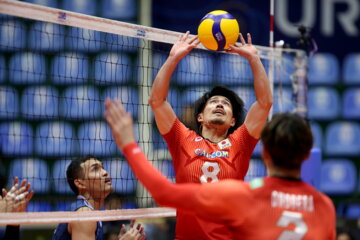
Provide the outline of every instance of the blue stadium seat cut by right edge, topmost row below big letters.
{"type": "Polygon", "coordinates": [[[343,79],[345,84],[360,84],[360,53],[350,53],[345,57],[343,79]]]}

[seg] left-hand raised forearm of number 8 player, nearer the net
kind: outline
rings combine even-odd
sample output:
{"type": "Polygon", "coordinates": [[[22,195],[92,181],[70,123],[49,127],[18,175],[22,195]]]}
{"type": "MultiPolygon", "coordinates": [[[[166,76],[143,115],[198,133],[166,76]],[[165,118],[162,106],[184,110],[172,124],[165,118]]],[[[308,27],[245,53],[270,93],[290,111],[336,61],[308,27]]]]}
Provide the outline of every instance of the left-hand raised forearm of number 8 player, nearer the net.
{"type": "Polygon", "coordinates": [[[172,57],[167,58],[156,75],[149,97],[149,104],[153,109],[166,101],[170,87],[170,79],[177,64],[178,60],[172,57]]]}

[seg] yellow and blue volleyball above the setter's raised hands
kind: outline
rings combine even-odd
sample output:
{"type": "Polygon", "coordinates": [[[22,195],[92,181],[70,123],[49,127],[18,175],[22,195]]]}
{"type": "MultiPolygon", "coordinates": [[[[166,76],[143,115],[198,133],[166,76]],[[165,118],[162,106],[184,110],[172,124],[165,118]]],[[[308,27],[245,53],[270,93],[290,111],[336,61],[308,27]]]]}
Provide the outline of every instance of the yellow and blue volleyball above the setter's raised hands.
{"type": "Polygon", "coordinates": [[[228,12],[215,10],[209,12],[200,21],[198,37],[208,49],[223,51],[239,38],[239,24],[228,12]]]}

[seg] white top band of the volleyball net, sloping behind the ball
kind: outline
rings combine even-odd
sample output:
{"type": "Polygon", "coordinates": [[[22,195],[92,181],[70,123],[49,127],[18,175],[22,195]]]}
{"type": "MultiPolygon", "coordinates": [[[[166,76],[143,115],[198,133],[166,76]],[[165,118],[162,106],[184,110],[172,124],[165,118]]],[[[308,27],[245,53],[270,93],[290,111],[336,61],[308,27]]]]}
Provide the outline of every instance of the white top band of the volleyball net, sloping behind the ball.
{"type": "MultiPolygon", "coordinates": [[[[174,43],[181,34],[179,32],[94,17],[20,1],[0,1],[0,13],[163,43],[174,43]]],[[[273,50],[273,48],[270,47],[258,45],[256,45],[256,47],[260,51],[260,57],[263,59],[281,59],[281,53],[283,51],[300,55],[304,54],[303,51],[295,49],[276,48],[273,50]]],[[[205,49],[202,44],[197,46],[197,48],[205,49]]]]}

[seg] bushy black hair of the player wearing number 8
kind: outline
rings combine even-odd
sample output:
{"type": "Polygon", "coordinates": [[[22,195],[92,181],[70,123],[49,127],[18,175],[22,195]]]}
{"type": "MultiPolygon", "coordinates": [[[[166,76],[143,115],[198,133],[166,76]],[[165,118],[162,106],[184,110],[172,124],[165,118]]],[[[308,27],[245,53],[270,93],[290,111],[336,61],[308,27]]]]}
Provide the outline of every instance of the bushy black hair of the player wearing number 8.
{"type": "Polygon", "coordinates": [[[233,133],[243,122],[246,116],[246,110],[244,108],[244,102],[241,98],[232,90],[223,87],[215,86],[211,91],[206,92],[194,103],[194,118],[195,118],[195,131],[201,135],[200,123],[197,121],[198,115],[204,110],[206,102],[213,96],[223,96],[229,99],[232,106],[233,117],[235,118],[235,125],[230,127],[228,135],[233,133]]]}

